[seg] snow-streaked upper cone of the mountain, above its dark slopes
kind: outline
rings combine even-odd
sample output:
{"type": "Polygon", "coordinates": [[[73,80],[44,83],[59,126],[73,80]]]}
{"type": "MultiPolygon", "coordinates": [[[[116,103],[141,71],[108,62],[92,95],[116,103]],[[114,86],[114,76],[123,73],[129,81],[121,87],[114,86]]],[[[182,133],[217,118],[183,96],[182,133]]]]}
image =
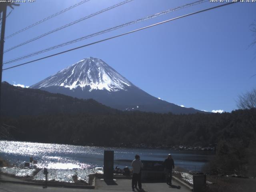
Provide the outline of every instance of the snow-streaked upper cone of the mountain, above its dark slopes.
{"type": "Polygon", "coordinates": [[[63,86],[70,89],[77,87],[83,89],[89,86],[89,91],[105,89],[111,92],[125,90],[127,86],[132,86],[132,83],[101,59],[89,57],[31,87],[42,88],[49,86],[63,86]]]}

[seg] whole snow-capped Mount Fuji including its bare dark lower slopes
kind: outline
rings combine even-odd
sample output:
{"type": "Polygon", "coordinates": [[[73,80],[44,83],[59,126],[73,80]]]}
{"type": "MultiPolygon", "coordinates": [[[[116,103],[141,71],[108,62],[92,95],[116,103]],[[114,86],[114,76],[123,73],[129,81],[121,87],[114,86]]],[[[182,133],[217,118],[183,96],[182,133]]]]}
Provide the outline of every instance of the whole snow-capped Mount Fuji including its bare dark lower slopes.
{"type": "Polygon", "coordinates": [[[98,58],[85,58],[30,86],[52,93],[88,99],[119,110],[173,114],[205,113],[160,100],[144,92],[98,58]]]}

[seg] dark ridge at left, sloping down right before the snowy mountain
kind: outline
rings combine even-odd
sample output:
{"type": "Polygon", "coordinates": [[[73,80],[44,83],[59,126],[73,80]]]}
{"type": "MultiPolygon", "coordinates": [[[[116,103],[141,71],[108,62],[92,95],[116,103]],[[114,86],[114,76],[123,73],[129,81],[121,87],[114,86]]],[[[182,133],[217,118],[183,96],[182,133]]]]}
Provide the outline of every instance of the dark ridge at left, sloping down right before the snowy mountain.
{"type": "Polygon", "coordinates": [[[53,94],[39,89],[15,87],[2,83],[1,115],[21,116],[40,114],[113,114],[118,110],[102,105],[92,99],[78,99],[53,94]]]}

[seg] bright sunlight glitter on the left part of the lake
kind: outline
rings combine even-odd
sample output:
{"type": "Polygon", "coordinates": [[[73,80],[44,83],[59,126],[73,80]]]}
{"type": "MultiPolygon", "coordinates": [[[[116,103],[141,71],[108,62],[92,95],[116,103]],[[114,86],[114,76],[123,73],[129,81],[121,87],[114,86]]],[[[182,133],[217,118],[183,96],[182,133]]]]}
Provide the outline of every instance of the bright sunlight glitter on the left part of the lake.
{"type": "MultiPolygon", "coordinates": [[[[77,156],[100,154],[100,151],[83,146],[69,146],[64,144],[44,144],[32,142],[0,141],[0,153],[11,156],[10,161],[18,166],[29,161],[33,157],[38,163],[38,168],[73,169],[90,168],[88,164],[75,160],[77,156]],[[16,161],[15,161],[16,159],[16,161]]],[[[95,165],[96,166],[96,165],[95,165]]]]}

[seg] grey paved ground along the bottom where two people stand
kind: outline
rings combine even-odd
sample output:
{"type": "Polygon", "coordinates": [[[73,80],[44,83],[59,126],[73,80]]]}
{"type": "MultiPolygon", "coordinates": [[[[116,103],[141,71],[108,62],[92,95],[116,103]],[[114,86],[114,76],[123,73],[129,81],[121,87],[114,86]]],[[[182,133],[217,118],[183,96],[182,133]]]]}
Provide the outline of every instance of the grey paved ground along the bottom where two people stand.
{"type": "MultiPolygon", "coordinates": [[[[119,179],[111,185],[99,179],[95,183],[96,189],[77,189],[77,188],[60,188],[48,187],[43,189],[41,186],[0,183],[0,192],[131,192],[131,180],[119,179]],[[114,184],[114,185],[113,185],[114,184]]],[[[145,192],[191,192],[185,186],[173,181],[173,186],[166,183],[142,183],[145,192]],[[178,187],[180,186],[180,188],[178,187]]]]}

